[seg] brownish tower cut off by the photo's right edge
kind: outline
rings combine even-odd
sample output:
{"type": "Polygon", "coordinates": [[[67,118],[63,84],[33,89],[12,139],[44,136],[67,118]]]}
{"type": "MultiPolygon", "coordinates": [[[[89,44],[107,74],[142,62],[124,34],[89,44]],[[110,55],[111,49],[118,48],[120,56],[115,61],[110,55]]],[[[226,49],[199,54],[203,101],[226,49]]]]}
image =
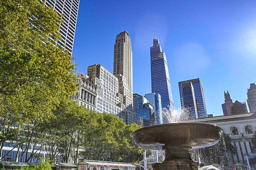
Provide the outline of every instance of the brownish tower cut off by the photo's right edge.
{"type": "Polygon", "coordinates": [[[250,84],[250,88],[247,89],[247,104],[250,112],[256,112],[256,85],[250,84]]]}

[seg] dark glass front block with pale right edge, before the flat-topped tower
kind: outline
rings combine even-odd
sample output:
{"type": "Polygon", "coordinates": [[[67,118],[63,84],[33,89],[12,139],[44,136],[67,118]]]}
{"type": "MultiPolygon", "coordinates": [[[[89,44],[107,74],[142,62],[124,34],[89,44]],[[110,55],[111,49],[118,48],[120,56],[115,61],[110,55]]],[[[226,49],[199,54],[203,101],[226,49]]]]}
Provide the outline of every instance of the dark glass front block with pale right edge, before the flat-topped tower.
{"type": "Polygon", "coordinates": [[[180,89],[182,107],[187,108],[194,118],[198,118],[195,91],[191,81],[181,83],[180,89]]]}

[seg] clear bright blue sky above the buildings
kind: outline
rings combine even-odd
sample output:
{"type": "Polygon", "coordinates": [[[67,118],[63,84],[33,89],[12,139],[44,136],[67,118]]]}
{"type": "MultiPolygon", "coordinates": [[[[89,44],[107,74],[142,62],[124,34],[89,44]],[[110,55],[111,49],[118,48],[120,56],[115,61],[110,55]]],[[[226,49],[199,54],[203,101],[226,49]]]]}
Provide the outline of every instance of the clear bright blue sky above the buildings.
{"type": "MultiPolygon", "coordinates": [[[[174,103],[179,81],[200,78],[208,114],[223,115],[224,91],[245,102],[256,84],[256,1],[80,0],[73,57],[77,73],[101,64],[113,73],[116,35],[133,51],[133,93],[151,93],[154,32],[166,54],[174,103]]],[[[247,102],[246,102],[247,105],[247,102]]]]}

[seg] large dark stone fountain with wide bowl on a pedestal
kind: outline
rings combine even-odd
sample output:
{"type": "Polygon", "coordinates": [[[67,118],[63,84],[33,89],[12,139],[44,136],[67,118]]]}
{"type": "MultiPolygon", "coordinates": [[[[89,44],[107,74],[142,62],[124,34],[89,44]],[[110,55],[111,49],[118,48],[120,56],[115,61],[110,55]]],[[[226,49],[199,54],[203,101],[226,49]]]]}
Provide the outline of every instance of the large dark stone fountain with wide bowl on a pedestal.
{"type": "Polygon", "coordinates": [[[216,144],[221,131],[213,124],[169,123],[137,129],[132,136],[142,148],[165,150],[164,161],[152,164],[154,170],[197,170],[200,163],[191,159],[189,150],[216,144]]]}

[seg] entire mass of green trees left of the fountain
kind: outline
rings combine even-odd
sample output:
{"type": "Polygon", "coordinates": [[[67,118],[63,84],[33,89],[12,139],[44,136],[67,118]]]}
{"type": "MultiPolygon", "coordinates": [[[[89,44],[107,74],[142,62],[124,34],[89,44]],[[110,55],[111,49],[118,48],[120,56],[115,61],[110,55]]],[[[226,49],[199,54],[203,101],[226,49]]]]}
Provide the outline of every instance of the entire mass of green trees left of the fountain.
{"type": "Polygon", "coordinates": [[[70,100],[75,65],[58,45],[61,23],[42,1],[0,0],[0,155],[8,144],[26,162],[43,151],[51,161],[141,160],[131,135],[140,126],[70,100]]]}

